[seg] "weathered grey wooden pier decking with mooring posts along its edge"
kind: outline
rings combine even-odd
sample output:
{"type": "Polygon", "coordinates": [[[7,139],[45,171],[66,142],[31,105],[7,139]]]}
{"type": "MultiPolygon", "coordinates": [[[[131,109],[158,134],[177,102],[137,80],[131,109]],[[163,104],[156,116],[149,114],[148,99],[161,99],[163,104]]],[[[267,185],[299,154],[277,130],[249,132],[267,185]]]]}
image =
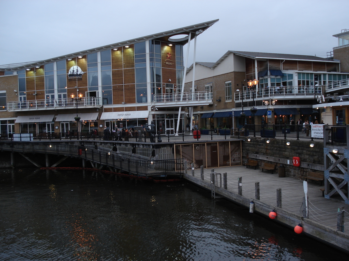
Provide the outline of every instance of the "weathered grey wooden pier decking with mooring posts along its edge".
{"type": "MultiPolygon", "coordinates": [[[[303,180],[294,177],[279,177],[276,173],[262,172],[257,168],[246,168],[245,166],[232,166],[214,168],[216,173],[222,175],[222,188],[220,187],[220,175],[217,175],[215,193],[224,196],[247,208],[250,202],[254,202],[254,212],[268,216],[273,209],[276,210],[276,222],[294,228],[298,223],[303,225],[303,233],[318,239],[326,244],[332,245],[344,252],[349,253],[349,205],[340,199],[325,199],[319,182],[308,182],[308,209],[309,218],[303,218],[302,211],[303,180]],[[227,190],[223,185],[223,173],[227,173],[227,190]],[[239,186],[238,178],[242,178],[239,186]],[[259,182],[260,200],[255,199],[255,183],[259,182]],[[242,189],[242,195],[238,194],[238,189],[242,189]],[[277,189],[281,189],[281,207],[276,207],[277,189]],[[337,211],[344,209],[344,232],[337,230],[337,211]]],[[[200,169],[188,170],[184,175],[185,179],[211,190],[210,180],[211,169],[203,170],[203,180],[201,180],[200,169]]],[[[290,231],[290,233],[295,233],[290,231]]]]}

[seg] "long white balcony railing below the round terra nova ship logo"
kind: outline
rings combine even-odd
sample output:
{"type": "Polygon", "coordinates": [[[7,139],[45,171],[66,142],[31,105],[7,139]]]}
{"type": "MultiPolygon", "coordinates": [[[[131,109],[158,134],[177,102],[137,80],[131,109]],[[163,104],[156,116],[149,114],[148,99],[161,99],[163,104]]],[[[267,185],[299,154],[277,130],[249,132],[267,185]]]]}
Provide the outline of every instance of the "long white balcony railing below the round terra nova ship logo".
{"type": "Polygon", "coordinates": [[[64,99],[47,99],[47,100],[32,100],[32,101],[16,101],[8,102],[7,109],[8,111],[17,111],[17,110],[50,110],[50,109],[69,109],[79,107],[97,107],[102,106],[101,97],[83,97],[81,98],[64,98],[64,99]]]}

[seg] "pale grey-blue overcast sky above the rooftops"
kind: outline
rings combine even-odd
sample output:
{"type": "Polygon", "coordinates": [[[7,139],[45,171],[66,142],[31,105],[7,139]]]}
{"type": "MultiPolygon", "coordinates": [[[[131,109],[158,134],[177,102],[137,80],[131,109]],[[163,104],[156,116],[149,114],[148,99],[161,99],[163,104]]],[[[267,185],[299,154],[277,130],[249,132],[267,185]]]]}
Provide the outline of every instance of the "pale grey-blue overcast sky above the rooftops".
{"type": "Polygon", "coordinates": [[[326,57],[337,46],[332,35],[349,29],[348,0],[0,4],[0,64],[46,60],[214,19],[220,21],[198,37],[196,61],[216,62],[228,50],[326,57]]]}

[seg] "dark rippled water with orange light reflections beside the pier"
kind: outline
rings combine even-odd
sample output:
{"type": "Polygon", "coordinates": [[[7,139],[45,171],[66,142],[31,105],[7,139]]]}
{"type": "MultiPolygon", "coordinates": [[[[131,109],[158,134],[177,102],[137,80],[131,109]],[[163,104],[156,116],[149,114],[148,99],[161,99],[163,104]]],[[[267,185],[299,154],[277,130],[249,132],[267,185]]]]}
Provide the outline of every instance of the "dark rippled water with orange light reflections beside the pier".
{"type": "Polygon", "coordinates": [[[2,170],[0,260],[321,261],[336,252],[210,196],[186,182],[2,170]]]}

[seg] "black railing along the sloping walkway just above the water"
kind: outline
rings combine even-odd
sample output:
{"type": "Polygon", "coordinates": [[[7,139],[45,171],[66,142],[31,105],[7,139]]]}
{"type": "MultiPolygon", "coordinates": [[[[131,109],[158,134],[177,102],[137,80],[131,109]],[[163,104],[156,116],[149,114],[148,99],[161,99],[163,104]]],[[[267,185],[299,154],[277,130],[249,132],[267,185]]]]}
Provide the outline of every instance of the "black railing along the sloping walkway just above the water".
{"type": "Polygon", "coordinates": [[[184,159],[144,160],[137,158],[136,155],[122,155],[117,151],[113,151],[113,148],[100,147],[95,149],[88,145],[1,140],[0,149],[12,152],[36,152],[78,157],[139,176],[183,175],[185,167],[184,159]]]}

